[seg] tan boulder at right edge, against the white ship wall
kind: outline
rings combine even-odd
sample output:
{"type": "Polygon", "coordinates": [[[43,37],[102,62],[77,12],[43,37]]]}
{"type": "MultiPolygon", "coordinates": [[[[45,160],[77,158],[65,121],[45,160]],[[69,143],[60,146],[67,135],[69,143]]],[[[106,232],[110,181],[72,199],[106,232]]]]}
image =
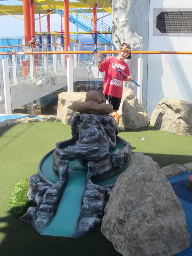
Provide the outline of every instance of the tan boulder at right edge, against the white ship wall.
{"type": "Polygon", "coordinates": [[[154,109],[150,123],[158,130],[178,135],[192,135],[192,104],[164,98],[154,109]]]}

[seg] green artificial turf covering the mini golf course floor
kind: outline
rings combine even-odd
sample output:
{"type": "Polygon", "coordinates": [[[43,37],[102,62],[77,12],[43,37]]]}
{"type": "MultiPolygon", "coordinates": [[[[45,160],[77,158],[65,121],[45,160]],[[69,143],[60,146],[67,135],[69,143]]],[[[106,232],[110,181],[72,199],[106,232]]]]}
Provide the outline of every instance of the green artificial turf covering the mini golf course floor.
{"type": "MultiPolygon", "coordinates": [[[[147,126],[126,130],[133,153],[150,155],[160,167],[192,162],[192,136],[166,133],[147,126]],[[146,137],[140,140],[139,137],[146,137]]],[[[39,161],[55,143],[70,139],[71,127],[61,122],[21,123],[0,128],[0,255],[117,256],[100,231],[81,238],[42,236],[28,223],[14,218],[9,202],[15,185],[37,173],[39,161]]]]}

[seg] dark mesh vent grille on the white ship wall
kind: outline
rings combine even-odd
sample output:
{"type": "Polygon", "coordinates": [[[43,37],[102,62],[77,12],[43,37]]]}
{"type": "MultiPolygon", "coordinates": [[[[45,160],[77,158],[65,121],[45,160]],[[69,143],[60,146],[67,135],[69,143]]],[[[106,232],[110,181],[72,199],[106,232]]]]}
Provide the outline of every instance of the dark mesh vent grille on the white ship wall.
{"type": "Polygon", "coordinates": [[[192,11],[162,11],[156,27],[161,33],[192,33],[192,11]]]}

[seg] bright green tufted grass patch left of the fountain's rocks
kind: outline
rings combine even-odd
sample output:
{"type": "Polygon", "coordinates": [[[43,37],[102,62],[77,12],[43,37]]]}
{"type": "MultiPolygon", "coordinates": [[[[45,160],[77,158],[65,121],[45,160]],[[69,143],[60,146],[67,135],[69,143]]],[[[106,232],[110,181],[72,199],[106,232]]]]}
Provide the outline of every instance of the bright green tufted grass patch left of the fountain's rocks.
{"type": "Polygon", "coordinates": [[[10,198],[9,210],[13,217],[18,218],[19,216],[26,213],[30,206],[36,206],[34,201],[30,201],[27,198],[28,192],[28,178],[19,181],[14,189],[10,198]]]}

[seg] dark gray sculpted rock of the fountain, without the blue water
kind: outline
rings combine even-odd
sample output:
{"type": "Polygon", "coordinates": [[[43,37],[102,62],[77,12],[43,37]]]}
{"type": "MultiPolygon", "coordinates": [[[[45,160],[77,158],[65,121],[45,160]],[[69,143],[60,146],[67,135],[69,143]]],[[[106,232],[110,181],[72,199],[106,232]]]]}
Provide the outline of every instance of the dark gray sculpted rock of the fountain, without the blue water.
{"type": "Polygon", "coordinates": [[[82,165],[87,165],[86,188],[74,233],[74,237],[79,237],[101,227],[114,182],[106,187],[97,185],[97,182],[119,175],[121,167],[130,159],[131,144],[116,135],[116,124],[111,115],[78,113],[71,118],[71,130],[73,137],[58,142],[57,148],[51,151],[53,173],[59,181],[53,184],[43,176],[43,159],[39,163],[38,174],[32,175],[29,180],[27,196],[35,201],[37,207],[30,207],[21,219],[40,234],[55,216],[68,173],[75,171],[69,168],[69,161],[78,159],[82,165]],[[121,149],[115,150],[116,142],[121,143],[121,149]]]}

